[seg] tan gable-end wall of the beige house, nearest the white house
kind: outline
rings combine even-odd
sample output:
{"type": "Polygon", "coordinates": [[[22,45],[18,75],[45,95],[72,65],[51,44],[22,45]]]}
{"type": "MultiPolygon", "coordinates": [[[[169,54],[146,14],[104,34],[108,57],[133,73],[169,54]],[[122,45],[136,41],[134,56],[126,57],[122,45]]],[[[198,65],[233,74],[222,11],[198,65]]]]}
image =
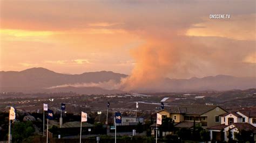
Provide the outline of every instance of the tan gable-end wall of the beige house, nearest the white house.
{"type": "Polygon", "coordinates": [[[221,124],[221,121],[219,119],[219,122],[215,122],[215,116],[220,116],[221,114],[227,113],[226,111],[224,111],[223,109],[216,107],[211,111],[208,111],[206,113],[204,113],[201,116],[207,116],[207,127],[211,127],[211,126],[217,126],[221,124]]]}

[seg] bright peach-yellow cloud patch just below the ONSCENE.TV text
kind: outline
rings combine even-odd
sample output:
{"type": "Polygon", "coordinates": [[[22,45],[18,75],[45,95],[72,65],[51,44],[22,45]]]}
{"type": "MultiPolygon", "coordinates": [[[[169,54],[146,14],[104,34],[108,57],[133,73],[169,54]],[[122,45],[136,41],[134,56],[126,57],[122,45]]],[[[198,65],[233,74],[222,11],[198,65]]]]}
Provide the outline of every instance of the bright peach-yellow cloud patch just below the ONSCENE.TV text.
{"type": "Polygon", "coordinates": [[[238,15],[231,19],[206,19],[187,30],[188,36],[223,37],[235,40],[256,40],[256,14],[238,15]],[[244,20],[246,19],[246,20],[244,20]]]}

